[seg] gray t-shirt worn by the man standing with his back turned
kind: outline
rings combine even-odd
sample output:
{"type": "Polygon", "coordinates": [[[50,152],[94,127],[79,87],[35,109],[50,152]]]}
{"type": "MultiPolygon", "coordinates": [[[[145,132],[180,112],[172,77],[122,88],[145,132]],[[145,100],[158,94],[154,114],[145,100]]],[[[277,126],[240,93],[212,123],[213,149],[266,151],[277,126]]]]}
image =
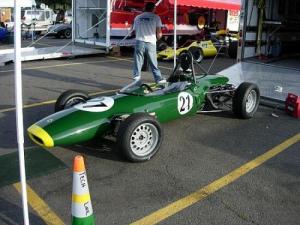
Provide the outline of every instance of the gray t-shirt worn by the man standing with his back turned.
{"type": "Polygon", "coordinates": [[[162,27],[161,19],[151,12],[144,12],[134,19],[136,40],[156,44],[156,28],[162,27]]]}

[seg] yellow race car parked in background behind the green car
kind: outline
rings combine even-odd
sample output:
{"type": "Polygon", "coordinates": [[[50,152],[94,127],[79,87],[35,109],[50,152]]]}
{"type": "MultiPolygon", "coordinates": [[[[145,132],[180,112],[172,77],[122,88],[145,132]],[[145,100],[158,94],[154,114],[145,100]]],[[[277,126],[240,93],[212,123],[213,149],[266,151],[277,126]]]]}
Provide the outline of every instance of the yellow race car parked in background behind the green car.
{"type": "MultiPolygon", "coordinates": [[[[204,57],[212,57],[217,54],[217,49],[212,41],[193,41],[188,40],[182,47],[176,50],[176,56],[190,51],[194,60],[201,62],[204,57]]],[[[158,60],[170,60],[174,58],[174,49],[167,47],[165,50],[157,53],[158,60]]]]}

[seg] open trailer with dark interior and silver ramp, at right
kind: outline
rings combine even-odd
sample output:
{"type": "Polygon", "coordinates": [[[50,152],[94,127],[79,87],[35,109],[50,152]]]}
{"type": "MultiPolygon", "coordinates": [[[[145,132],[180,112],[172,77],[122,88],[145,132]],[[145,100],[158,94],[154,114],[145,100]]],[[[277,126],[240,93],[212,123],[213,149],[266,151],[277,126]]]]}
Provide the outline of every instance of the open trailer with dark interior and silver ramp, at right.
{"type": "Polygon", "coordinates": [[[267,99],[300,95],[299,12],[300,1],[243,0],[237,64],[220,74],[257,83],[267,99]]]}

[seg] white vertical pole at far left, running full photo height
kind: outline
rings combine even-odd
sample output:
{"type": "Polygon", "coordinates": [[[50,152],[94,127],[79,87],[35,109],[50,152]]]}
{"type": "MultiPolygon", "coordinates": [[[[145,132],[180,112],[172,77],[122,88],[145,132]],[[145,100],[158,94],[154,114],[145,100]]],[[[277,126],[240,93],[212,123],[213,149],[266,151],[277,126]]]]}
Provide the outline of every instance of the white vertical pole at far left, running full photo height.
{"type": "Polygon", "coordinates": [[[15,101],[16,101],[16,123],[19,149],[19,166],[22,187],[22,204],[24,224],[29,225],[27,189],[24,159],[24,132],[23,132],[23,102],[22,102],[22,63],[21,63],[21,1],[15,0],[15,24],[14,24],[14,45],[15,45],[15,101]]]}

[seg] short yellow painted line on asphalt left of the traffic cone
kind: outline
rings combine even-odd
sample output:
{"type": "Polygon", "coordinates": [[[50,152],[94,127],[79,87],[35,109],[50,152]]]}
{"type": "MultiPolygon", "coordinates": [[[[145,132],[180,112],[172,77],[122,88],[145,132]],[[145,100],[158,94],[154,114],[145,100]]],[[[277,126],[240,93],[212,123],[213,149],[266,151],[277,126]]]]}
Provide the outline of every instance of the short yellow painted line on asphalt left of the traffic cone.
{"type": "MultiPolygon", "coordinates": [[[[21,183],[13,184],[21,194],[21,183]]],[[[34,190],[27,185],[28,203],[46,224],[65,225],[65,223],[51,210],[47,203],[41,199],[34,190]]]]}

